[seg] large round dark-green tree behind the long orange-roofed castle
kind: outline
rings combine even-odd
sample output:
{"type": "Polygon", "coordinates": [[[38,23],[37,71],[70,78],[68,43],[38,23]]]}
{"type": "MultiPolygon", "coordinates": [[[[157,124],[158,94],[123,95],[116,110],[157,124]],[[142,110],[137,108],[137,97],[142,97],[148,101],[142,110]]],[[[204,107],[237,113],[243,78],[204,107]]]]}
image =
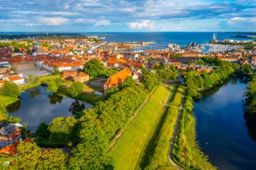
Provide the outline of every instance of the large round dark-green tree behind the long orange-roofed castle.
{"type": "Polygon", "coordinates": [[[103,64],[96,59],[89,60],[84,65],[84,73],[88,73],[88,75],[90,76],[101,75],[103,71],[104,71],[103,64]]]}

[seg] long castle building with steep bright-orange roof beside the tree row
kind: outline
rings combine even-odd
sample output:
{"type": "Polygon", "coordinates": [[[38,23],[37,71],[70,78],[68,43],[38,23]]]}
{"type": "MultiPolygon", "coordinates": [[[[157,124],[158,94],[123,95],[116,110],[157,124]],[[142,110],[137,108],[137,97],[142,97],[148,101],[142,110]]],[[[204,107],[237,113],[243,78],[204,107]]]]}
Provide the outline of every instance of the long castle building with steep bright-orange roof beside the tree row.
{"type": "Polygon", "coordinates": [[[111,87],[119,87],[129,76],[131,76],[131,71],[130,69],[125,68],[122,71],[116,73],[115,75],[109,77],[106,83],[104,83],[104,95],[106,96],[106,93],[111,87]]]}

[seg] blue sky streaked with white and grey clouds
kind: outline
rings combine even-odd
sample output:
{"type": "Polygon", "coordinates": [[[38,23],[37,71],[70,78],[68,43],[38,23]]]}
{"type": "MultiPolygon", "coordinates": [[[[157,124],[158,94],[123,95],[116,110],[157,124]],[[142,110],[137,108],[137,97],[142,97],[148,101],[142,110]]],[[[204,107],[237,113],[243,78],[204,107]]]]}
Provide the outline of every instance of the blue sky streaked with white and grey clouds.
{"type": "Polygon", "coordinates": [[[256,32],[256,0],[0,0],[0,32],[256,32]]]}

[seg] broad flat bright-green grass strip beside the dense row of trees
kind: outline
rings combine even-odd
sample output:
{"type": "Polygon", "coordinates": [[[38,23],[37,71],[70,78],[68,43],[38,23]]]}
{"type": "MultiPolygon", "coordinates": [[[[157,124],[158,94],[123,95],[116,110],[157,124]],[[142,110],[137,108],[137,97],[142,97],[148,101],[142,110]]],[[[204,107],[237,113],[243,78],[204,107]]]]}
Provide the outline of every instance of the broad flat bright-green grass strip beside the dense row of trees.
{"type": "Polygon", "coordinates": [[[108,154],[114,159],[115,169],[135,169],[143,148],[161,116],[168,92],[165,87],[158,87],[110,150],[108,154]]]}

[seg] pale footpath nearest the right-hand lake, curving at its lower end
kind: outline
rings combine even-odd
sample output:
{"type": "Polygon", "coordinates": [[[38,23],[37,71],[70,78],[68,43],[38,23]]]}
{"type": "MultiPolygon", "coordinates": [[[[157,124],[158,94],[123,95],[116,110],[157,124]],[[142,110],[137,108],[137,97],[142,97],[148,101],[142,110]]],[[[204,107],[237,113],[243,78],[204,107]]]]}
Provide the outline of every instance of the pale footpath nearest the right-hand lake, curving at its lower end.
{"type": "Polygon", "coordinates": [[[176,167],[177,169],[179,169],[179,170],[183,170],[183,169],[182,169],[181,167],[179,167],[179,165],[177,165],[176,163],[174,163],[174,161],[172,160],[172,149],[173,149],[174,140],[175,140],[175,137],[176,137],[176,134],[177,134],[178,126],[179,126],[179,121],[180,121],[180,118],[181,118],[181,111],[182,111],[182,109],[183,109],[184,95],[185,95],[185,91],[183,92],[183,99],[182,99],[182,101],[181,101],[181,105],[180,105],[180,108],[179,108],[179,114],[178,114],[178,117],[177,117],[176,125],[175,125],[175,127],[174,127],[174,132],[173,132],[172,140],[170,140],[170,149],[169,149],[169,154],[168,154],[168,158],[169,158],[170,163],[171,163],[174,167],[176,167]]]}

